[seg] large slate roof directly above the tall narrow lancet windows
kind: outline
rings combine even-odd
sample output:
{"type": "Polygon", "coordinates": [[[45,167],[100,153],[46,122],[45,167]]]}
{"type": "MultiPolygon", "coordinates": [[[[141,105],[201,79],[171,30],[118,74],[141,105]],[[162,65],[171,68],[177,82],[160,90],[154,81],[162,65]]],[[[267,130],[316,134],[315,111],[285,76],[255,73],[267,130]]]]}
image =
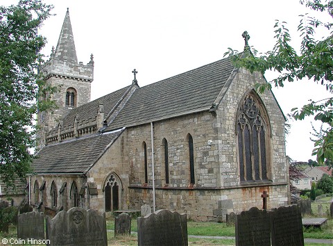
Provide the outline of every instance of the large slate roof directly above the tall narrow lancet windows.
{"type": "Polygon", "coordinates": [[[209,110],[233,69],[230,58],[224,58],[138,88],[106,131],[209,110]]]}

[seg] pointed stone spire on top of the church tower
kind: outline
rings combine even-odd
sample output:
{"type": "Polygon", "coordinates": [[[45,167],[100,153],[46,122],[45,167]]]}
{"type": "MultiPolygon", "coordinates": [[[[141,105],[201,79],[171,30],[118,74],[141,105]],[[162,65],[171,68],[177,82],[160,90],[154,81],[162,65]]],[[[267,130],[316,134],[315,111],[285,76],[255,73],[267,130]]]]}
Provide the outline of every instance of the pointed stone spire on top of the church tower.
{"type": "Polygon", "coordinates": [[[78,63],[76,49],[74,43],[73,31],[71,30],[71,19],[69,18],[69,9],[65,16],[64,24],[62,24],[61,33],[56,47],[56,58],[78,63]]]}

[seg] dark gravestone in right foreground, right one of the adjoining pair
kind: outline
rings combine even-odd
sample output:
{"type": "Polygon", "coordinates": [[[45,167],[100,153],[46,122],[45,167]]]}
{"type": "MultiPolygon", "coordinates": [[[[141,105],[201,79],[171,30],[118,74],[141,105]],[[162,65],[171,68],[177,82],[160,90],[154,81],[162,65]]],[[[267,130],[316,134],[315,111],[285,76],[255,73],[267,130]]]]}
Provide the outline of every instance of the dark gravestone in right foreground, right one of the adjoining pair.
{"type": "Polygon", "coordinates": [[[282,206],[271,212],[271,238],[273,246],[304,245],[298,206],[282,206]]]}

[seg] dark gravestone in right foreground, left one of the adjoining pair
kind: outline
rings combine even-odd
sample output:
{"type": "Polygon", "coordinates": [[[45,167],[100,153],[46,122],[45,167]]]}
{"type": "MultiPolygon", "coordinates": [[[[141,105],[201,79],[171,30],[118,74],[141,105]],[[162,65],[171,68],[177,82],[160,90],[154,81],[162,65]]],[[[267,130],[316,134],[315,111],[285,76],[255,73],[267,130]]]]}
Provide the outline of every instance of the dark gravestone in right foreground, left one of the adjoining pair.
{"type": "Polygon", "coordinates": [[[271,226],[266,210],[250,208],[236,218],[236,245],[271,246],[271,226]]]}

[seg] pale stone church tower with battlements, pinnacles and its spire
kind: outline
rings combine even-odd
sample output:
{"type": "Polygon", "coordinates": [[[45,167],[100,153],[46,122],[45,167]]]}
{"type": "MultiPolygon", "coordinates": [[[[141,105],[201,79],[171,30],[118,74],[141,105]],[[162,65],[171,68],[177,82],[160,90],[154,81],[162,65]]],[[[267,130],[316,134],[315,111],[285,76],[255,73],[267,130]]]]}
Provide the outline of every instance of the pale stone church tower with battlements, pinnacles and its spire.
{"type": "Polygon", "coordinates": [[[58,89],[52,95],[58,108],[37,115],[38,149],[46,145],[47,133],[58,127],[70,110],[90,101],[91,83],[94,80],[94,57],[90,56],[87,65],[78,63],[68,8],[56,50],[52,47],[51,57],[40,67],[40,72],[44,74],[46,83],[58,89]]]}

